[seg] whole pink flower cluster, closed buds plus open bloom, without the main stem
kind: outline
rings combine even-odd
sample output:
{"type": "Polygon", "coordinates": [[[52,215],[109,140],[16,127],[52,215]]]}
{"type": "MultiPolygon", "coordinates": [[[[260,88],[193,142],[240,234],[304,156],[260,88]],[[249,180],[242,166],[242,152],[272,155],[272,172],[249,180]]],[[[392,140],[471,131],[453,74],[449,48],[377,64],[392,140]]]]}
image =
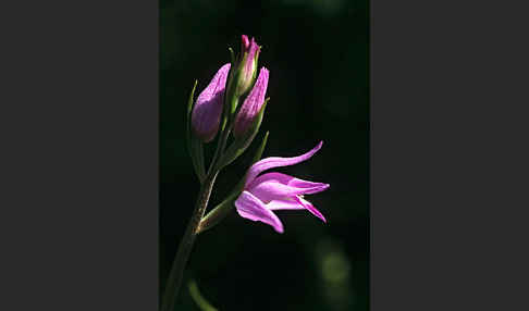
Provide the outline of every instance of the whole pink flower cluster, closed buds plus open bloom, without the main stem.
{"type": "MultiPolygon", "coordinates": [[[[242,36],[241,46],[239,57],[232,58],[232,63],[220,67],[193,105],[190,113],[193,136],[190,139],[194,139],[192,146],[195,146],[194,151],[192,151],[195,167],[204,165],[201,144],[212,141],[219,132],[221,132],[220,142],[210,171],[220,171],[242,154],[259,129],[267,105],[266,94],[269,70],[261,67],[256,79],[260,47],[254,38],[249,40],[245,35],[242,36]],[[237,103],[243,99],[243,104],[237,109],[237,103]],[[226,144],[230,133],[233,134],[234,139],[232,145],[225,148],[224,144],[226,144]],[[196,141],[200,142],[197,145],[196,141]]],[[[281,173],[259,175],[269,169],[306,161],[321,146],[322,142],[299,157],[272,157],[260,161],[256,159],[257,162],[248,169],[239,186],[235,187],[232,196],[226,199],[229,203],[221,204],[206,215],[204,224],[199,228],[209,227],[211,223],[217,223],[225,215],[225,210],[233,206],[241,216],[263,222],[272,226],[278,233],[283,233],[284,228],[282,222],[273,212],[276,210],[304,209],[325,222],[324,216],[304,198],[304,195],[323,191],[329,188],[328,184],[303,181],[281,173]]],[[[258,158],[260,158],[260,154],[258,158]]],[[[204,169],[198,171],[205,172],[204,169]]]]}

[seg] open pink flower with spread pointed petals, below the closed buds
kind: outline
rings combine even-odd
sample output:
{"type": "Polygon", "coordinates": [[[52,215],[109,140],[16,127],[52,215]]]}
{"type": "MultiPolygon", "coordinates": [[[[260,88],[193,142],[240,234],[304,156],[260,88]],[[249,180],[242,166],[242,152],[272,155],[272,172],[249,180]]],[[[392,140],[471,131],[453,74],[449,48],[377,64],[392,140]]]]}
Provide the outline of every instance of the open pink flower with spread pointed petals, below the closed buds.
{"type": "Polygon", "coordinates": [[[261,172],[280,166],[288,166],[310,159],[320,150],[320,141],[312,150],[298,157],[272,157],[256,162],[248,170],[243,192],[235,200],[235,208],[241,216],[271,225],[278,233],[283,233],[283,224],[273,213],[275,210],[307,209],[313,215],[325,222],[325,217],[303,195],[311,195],[325,190],[329,184],[302,181],[281,173],[261,172]]]}

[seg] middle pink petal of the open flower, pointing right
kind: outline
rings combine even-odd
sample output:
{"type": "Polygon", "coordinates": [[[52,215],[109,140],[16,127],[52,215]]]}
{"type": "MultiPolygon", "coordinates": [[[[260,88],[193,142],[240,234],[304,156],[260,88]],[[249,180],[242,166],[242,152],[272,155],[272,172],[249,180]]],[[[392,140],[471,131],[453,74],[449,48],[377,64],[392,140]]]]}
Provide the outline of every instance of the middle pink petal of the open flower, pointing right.
{"type": "Polygon", "coordinates": [[[328,184],[298,179],[281,173],[267,173],[254,179],[247,190],[263,202],[286,197],[316,194],[329,188],[328,184]]]}

